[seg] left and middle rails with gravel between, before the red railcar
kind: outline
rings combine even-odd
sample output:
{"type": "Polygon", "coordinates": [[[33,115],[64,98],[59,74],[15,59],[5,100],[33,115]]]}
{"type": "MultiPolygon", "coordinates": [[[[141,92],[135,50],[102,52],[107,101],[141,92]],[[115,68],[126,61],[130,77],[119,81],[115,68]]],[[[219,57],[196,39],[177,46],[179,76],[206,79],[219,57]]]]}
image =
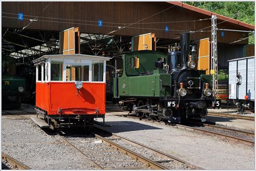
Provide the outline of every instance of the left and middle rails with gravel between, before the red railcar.
{"type": "MultiPolygon", "coordinates": [[[[95,167],[99,169],[168,169],[159,163],[145,158],[129,149],[114,143],[98,134],[95,134],[95,139],[87,141],[87,143],[97,142],[90,145],[87,144],[86,148],[82,149],[71,143],[69,139],[60,136],[66,143],[76,148],[77,151],[82,153],[88,158],[95,167]],[[85,150],[86,149],[86,150],[85,150]],[[106,155],[107,153],[107,155],[106,155]],[[113,158],[114,157],[114,158],[113,158]],[[100,160],[98,160],[100,159],[100,160]]],[[[86,142],[86,141],[85,141],[86,142]]]]}

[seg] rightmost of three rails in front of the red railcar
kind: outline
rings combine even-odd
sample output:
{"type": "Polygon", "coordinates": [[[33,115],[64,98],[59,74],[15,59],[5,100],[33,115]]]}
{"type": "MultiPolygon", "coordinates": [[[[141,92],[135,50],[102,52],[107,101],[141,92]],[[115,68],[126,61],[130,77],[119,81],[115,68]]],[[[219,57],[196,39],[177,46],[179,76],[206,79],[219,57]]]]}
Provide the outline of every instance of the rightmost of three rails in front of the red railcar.
{"type": "Polygon", "coordinates": [[[141,143],[138,143],[136,141],[130,140],[128,138],[125,138],[125,137],[122,137],[122,136],[118,136],[117,134],[114,134],[114,133],[111,133],[109,131],[100,129],[98,127],[97,127],[97,129],[99,129],[100,131],[104,131],[106,133],[110,133],[113,136],[112,139],[107,139],[107,140],[114,140],[114,139],[123,140],[124,142],[129,143],[131,145],[134,145],[134,146],[137,146],[137,147],[143,147],[143,148],[147,149],[148,151],[156,153],[157,155],[160,155],[160,156],[162,156],[162,157],[164,157],[166,159],[178,161],[180,163],[183,163],[185,166],[192,167],[192,168],[197,169],[197,170],[204,170],[204,168],[201,168],[201,167],[198,167],[198,166],[194,166],[194,165],[192,165],[192,164],[190,164],[190,163],[188,163],[188,162],[186,162],[186,161],[184,161],[182,159],[177,158],[176,156],[173,156],[173,155],[170,155],[170,154],[158,151],[157,149],[151,148],[149,146],[146,146],[144,144],[141,144],[141,143]]]}

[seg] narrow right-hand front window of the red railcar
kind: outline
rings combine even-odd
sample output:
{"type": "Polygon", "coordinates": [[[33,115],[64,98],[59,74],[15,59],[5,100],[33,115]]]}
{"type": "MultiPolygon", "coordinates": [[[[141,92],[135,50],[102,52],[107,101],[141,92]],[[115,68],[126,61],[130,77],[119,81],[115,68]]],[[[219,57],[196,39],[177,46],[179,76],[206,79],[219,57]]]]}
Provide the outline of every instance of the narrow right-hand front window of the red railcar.
{"type": "Polygon", "coordinates": [[[104,61],[92,61],[92,81],[103,81],[104,61]]]}

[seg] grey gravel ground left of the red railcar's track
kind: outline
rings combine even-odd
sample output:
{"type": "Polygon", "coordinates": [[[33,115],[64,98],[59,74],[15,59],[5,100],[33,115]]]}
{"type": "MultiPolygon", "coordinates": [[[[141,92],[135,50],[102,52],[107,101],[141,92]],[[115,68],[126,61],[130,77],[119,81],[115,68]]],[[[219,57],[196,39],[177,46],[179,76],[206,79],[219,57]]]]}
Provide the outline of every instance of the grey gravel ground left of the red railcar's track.
{"type": "Polygon", "coordinates": [[[89,159],[50,136],[30,119],[2,117],[2,152],[32,169],[99,169],[89,159]]]}

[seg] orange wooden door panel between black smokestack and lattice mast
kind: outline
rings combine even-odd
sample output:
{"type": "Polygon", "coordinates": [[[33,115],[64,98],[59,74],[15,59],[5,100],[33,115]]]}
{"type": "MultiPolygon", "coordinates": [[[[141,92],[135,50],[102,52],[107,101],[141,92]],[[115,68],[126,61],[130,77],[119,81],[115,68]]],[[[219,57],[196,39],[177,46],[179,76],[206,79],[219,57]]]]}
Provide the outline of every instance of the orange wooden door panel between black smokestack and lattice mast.
{"type": "Polygon", "coordinates": [[[199,41],[199,56],[197,58],[197,69],[206,70],[210,74],[210,41],[209,38],[199,41]]]}

